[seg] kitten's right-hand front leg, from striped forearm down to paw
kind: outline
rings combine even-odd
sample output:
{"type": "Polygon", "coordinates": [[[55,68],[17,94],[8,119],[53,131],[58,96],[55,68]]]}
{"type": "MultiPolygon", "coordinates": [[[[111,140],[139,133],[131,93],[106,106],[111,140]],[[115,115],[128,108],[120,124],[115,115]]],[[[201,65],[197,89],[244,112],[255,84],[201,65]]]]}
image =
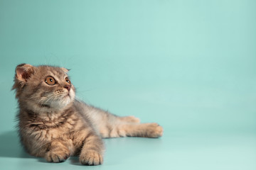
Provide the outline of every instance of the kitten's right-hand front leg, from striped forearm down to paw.
{"type": "Polygon", "coordinates": [[[101,137],[89,134],[85,138],[80,153],[80,163],[85,165],[99,165],[103,162],[104,144],[101,137]]]}

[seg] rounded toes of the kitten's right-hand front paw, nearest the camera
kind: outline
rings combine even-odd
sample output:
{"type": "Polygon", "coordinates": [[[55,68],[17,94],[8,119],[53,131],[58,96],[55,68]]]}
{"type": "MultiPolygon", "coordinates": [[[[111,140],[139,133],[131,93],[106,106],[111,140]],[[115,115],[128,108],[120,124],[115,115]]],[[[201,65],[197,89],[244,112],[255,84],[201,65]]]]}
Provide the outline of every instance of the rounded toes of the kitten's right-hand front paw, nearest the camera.
{"type": "Polygon", "coordinates": [[[102,155],[94,150],[80,154],[80,163],[84,165],[99,165],[102,164],[102,155]]]}

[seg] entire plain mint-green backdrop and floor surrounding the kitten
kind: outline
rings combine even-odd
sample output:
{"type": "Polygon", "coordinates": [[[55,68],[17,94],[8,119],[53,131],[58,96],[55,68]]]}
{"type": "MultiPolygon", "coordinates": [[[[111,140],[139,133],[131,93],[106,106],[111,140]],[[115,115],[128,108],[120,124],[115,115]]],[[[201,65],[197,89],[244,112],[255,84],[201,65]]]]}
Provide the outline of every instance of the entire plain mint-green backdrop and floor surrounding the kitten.
{"type": "Polygon", "coordinates": [[[256,1],[0,0],[1,169],[256,169],[256,1]],[[48,164],[15,133],[17,64],[71,69],[78,98],[164,127],[48,164]]]}

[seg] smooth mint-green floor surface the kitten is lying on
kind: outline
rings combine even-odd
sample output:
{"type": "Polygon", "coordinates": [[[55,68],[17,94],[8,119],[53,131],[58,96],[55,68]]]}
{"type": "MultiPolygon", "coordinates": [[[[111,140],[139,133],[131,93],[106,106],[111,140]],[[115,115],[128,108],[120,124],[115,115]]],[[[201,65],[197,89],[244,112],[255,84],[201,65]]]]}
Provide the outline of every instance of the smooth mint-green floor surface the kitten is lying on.
{"type": "Polygon", "coordinates": [[[166,132],[159,139],[105,140],[104,164],[82,166],[78,157],[48,163],[26,154],[16,132],[1,134],[1,169],[256,169],[256,136],[166,132]]]}

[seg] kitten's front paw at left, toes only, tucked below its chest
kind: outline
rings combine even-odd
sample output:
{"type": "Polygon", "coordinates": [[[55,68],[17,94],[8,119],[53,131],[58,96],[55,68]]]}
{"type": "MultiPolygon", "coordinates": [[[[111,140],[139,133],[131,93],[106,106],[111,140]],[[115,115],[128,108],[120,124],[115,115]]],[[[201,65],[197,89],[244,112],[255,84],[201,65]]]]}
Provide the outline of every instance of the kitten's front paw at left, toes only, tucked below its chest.
{"type": "Polygon", "coordinates": [[[59,151],[49,151],[46,153],[46,161],[47,162],[64,162],[66,159],[70,157],[70,153],[65,150],[59,151]]]}

